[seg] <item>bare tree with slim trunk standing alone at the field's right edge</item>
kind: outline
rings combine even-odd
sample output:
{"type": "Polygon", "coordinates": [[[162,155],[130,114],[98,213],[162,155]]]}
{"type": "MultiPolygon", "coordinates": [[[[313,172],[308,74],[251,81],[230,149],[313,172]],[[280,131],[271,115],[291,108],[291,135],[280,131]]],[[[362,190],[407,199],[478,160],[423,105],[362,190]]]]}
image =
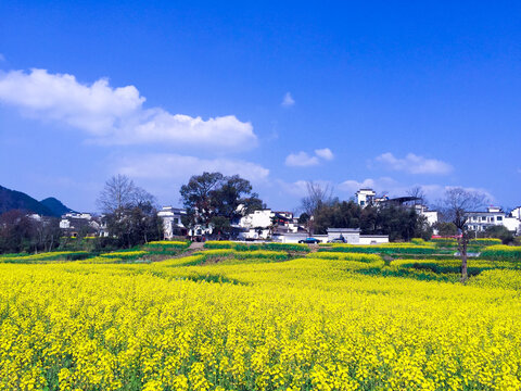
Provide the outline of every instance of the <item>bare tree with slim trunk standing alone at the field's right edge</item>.
{"type": "Polygon", "coordinates": [[[469,232],[467,220],[469,212],[476,211],[487,203],[485,194],[466,190],[462,188],[452,188],[445,191],[445,198],[442,205],[442,218],[445,222],[453,223],[458,229],[458,249],[461,256],[461,282],[468,279],[467,270],[467,245],[469,243],[469,232]]]}

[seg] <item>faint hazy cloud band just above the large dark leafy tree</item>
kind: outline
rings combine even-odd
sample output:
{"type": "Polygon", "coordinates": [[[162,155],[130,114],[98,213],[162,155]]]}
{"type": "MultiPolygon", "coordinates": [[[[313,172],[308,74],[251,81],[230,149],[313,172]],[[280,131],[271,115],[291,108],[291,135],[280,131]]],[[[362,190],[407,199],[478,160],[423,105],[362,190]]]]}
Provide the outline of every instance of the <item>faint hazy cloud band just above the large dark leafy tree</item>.
{"type": "Polygon", "coordinates": [[[114,173],[125,174],[132,178],[183,180],[203,172],[238,174],[257,184],[265,181],[269,175],[269,169],[242,160],[200,159],[170,153],[127,156],[114,164],[114,173]]]}

